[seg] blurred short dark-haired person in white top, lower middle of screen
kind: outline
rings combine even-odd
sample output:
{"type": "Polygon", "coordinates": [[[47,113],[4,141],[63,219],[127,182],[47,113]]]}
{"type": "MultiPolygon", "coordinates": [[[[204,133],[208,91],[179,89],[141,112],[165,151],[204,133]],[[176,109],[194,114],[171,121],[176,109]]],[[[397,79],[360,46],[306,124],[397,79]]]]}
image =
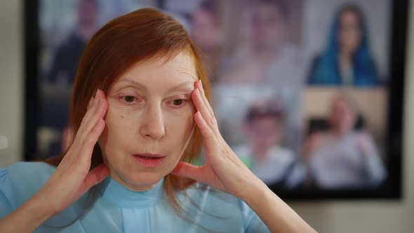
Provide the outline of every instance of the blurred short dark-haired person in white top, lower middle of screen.
{"type": "Polygon", "coordinates": [[[284,187],[293,168],[295,153],[282,147],[283,111],[274,101],[255,102],[246,115],[246,144],[234,152],[267,185],[284,187]]]}

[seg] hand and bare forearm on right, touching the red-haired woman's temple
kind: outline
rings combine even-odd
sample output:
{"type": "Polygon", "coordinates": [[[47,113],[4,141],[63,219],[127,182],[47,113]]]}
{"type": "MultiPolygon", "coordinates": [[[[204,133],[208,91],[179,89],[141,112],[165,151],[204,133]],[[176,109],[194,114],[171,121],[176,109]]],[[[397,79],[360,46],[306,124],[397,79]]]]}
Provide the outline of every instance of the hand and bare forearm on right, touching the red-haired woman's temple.
{"type": "Polygon", "coordinates": [[[173,174],[192,178],[242,199],[262,219],[270,232],[315,232],[286,203],[267,188],[234,154],[220,135],[213,109],[197,81],[192,100],[194,115],[206,149],[206,164],[194,166],[180,162],[173,174]]]}

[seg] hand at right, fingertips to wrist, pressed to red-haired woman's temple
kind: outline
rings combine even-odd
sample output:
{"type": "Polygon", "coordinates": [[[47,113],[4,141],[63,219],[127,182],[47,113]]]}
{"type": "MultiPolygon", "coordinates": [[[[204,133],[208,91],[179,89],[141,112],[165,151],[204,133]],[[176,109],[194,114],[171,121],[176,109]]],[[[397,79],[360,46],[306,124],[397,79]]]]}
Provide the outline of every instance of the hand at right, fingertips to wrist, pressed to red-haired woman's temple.
{"type": "Polygon", "coordinates": [[[220,135],[213,109],[204,94],[201,81],[195,84],[192,100],[197,109],[194,119],[203,135],[206,163],[203,166],[194,166],[180,162],[172,173],[192,178],[243,199],[245,189],[251,188],[248,184],[258,184],[261,180],[243,164],[220,135]]]}

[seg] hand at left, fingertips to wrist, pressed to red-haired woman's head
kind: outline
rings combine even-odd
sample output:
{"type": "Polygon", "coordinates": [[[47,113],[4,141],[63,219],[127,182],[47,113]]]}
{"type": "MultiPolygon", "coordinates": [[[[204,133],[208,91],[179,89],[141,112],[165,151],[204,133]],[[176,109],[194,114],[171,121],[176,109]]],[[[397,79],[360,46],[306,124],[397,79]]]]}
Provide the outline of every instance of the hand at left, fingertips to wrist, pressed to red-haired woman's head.
{"type": "Polygon", "coordinates": [[[109,175],[109,169],[104,164],[89,171],[93,147],[105,128],[103,117],[107,108],[105,93],[98,89],[88,104],[84,119],[67,154],[51,178],[32,198],[44,204],[41,206],[48,208],[47,212],[51,215],[63,211],[109,175]]]}

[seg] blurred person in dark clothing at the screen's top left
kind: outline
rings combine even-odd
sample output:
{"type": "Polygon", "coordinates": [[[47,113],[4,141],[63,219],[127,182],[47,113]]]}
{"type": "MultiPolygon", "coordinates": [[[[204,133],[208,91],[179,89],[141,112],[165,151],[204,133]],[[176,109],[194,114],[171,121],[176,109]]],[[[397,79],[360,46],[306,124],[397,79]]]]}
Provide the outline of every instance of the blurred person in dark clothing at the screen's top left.
{"type": "Polygon", "coordinates": [[[97,28],[98,1],[79,0],[76,25],[55,50],[54,58],[47,73],[49,83],[72,85],[86,43],[97,28]]]}

